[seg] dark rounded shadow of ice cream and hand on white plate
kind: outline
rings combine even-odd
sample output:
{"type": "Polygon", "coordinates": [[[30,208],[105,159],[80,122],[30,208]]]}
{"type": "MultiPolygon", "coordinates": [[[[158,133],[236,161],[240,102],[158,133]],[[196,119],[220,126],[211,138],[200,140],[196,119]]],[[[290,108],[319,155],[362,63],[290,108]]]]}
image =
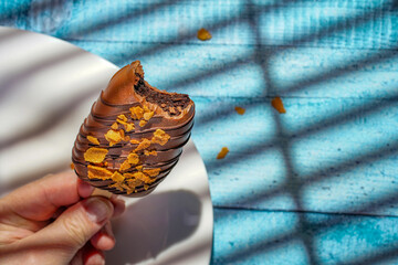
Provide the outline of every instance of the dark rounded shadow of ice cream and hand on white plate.
{"type": "Polygon", "coordinates": [[[115,221],[117,245],[106,254],[106,259],[116,265],[156,262],[159,254],[193,234],[200,215],[200,200],[189,191],[160,192],[142,198],[115,221]]]}

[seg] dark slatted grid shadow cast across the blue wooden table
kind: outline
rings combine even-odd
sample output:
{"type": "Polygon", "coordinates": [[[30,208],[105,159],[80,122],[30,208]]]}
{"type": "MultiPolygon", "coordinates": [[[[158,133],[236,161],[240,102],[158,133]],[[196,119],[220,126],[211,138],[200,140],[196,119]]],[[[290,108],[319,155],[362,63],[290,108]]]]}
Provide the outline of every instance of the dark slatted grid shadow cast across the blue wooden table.
{"type": "MultiPolygon", "coordinates": [[[[274,80],[272,74],[272,66],[271,60],[277,55],[283,53],[284,51],[297,49],[301,46],[311,46],[312,43],[318,42],[323,38],[331,36],[333,34],[339,33],[342,31],[346,31],[349,29],[360,28],[363,24],[368,23],[373,20],[381,19],[386,12],[396,12],[397,2],[390,1],[380,4],[379,7],[369,8],[365,12],[356,14],[354,17],[344,19],[342,21],[337,21],[336,23],[328,23],[325,26],[321,28],[315,32],[310,32],[307,34],[294,36],[285,43],[284,45],[270,45],[266,42],[266,38],[262,35],[261,31],[261,20],[260,17],[266,15],[266,13],[272,12],[277,9],[285,9],[289,8],[290,4],[297,3],[297,2],[306,2],[306,1],[287,1],[281,0],[275,1],[274,3],[270,4],[259,4],[254,1],[247,0],[243,4],[243,10],[237,14],[235,17],[228,18],[221,21],[217,21],[217,23],[209,23],[207,29],[210,32],[214,32],[221,30],[226,26],[237,24],[237,23],[247,23],[249,25],[251,35],[253,35],[253,43],[251,44],[253,47],[253,52],[249,56],[241,56],[235,59],[234,61],[229,62],[228,64],[222,64],[220,67],[212,68],[211,71],[202,71],[192,73],[190,76],[186,76],[177,82],[168,83],[165,88],[167,89],[181,89],[184,91],[185,86],[195,84],[203,78],[217,77],[222,73],[232,71],[234,68],[239,68],[243,65],[256,65],[261,68],[261,77],[263,80],[262,83],[266,84],[266,89],[263,93],[263,96],[259,98],[252,98],[248,104],[248,109],[255,108],[259,105],[270,104],[270,100],[276,95],[283,95],[286,98],[295,97],[295,93],[300,93],[302,89],[311,87],[312,85],[331,81],[334,78],[338,78],[342,76],[347,75],[350,72],[357,72],[364,67],[368,67],[369,65],[380,64],[386,62],[390,59],[395,59],[398,53],[396,51],[396,45],[390,45],[388,49],[380,49],[379,51],[375,52],[370,56],[359,57],[355,62],[349,62],[347,64],[339,64],[335,68],[326,72],[321,72],[317,75],[311,76],[308,78],[303,78],[300,82],[294,84],[281,87],[279,83],[274,80]]],[[[113,18],[109,21],[98,21],[96,24],[82,26],[73,32],[73,35],[63,35],[62,33],[56,33],[54,35],[60,36],[64,40],[69,40],[71,42],[76,43],[77,45],[81,42],[80,36],[84,36],[87,33],[96,32],[104,30],[109,26],[117,26],[118,23],[130,19],[134,15],[148,15],[155,12],[157,9],[163,9],[167,7],[178,6],[179,1],[163,1],[156,4],[149,4],[144,10],[132,10],[132,12],[125,13],[123,17],[113,18]],[[57,35],[59,34],[59,35],[57,35]]],[[[56,1],[56,4],[61,4],[60,1],[56,1]]],[[[50,6],[36,6],[36,8],[50,8],[50,6]]],[[[0,18],[6,18],[7,23],[13,23],[13,14],[19,14],[27,12],[27,7],[20,7],[20,11],[12,10],[9,13],[0,18]]],[[[0,21],[1,22],[1,21],[0,21]]],[[[188,31],[184,34],[180,34],[178,39],[175,36],[166,40],[164,43],[156,44],[153,43],[147,47],[135,50],[134,52],[124,52],[123,55],[115,56],[118,57],[117,60],[113,60],[114,63],[117,65],[124,65],[128,63],[132,59],[136,57],[147,57],[147,56],[155,56],[157,53],[161,53],[167,51],[170,47],[178,46],[180,44],[185,44],[190,40],[196,39],[196,31],[188,31]]],[[[1,40],[0,40],[1,41],[1,40]]],[[[313,44],[316,46],[316,44],[313,44]]],[[[186,91],[190,93],[189,91],[186,91]]],[[[316,243],[314,242],[314,237],[317,233],[321,233],[325,230],[331,230],[332,227],[338,226],[339,224],[347,221],[346,215],[349,215],[349,212],[353,212],[353,209],[343,209],[342,212],[346,214],[332,214],[331,219],[325,222],[320,222],[314,224],[308,219],[307,215],[307,208],[305,202],[303,201],[303,190],[305,186],[308,183],[315,183],[318,181],[323,181],[325,179],[332,178],[336,173],[347,172],[359,165],[364,163],[371,163],[374,161],[384,159],[385,157],[397,155],[398,149],[398,141],[395,136],[394,139],[387,146],[380,146],[379,148],[365,152],[358,153],[354,156],[352,159],[342,161],[339,163],[333,165],[333,167],[324,169],[320,168],[318,171],[312,172],[308,176],[298,177],[298,170],[296,169],[296,163],[294,161],[295,157],[292,152],[292,146],[297,139],[303,139],[305,137],[311,137],[312,135],[316,135],[322,130],[326,130],[329,128],[336,128],[345,123],[349,123],[353,120],[353,117],[357,116],[367,116],[371,115],[381,109],[386,109],[388,107],[392,107],[397,104],[398,94],[392,93],[384,98],[375,98],[374,100],[367,100],[364,105],[353,107],[346,113],[341,113],[338,115],[331,115],[324,117],[323,120],[320,123],[313,124],[311,126],[304,127],[300,130],[290,131],[281,117],[281,115],[276,114],[275,112],[272,113],[271,119],[272,124],[275,125],[275,136],[269,141],[260,141],[256,142],[255,146],[248,145],[247,142],[242,142],[242,149],[240,150],[241,153],[244,153],[244,157],[239,155],[229,156],[226,160],[222,161],[209,161],[207,162],[207,169],[210,172],[210,178],[217,178],[212,173],[220,168],[229,167],[229,165],[239,162],[242,159],[248,159],[249,157],[256,156],[258,153],[265,152],[269,150],[277,150],[279,153],[282,156],[283,167],[285,168],[285,182],[279,186],[277,189],[273,189],[271,191],[264,191],[261,193],[256,193],[253,197],[247,197],[243,206],[237,206],[237,201],[229,201],[227,204],[216,202],[214,208],[219,210],[226,210],[220,212],[217,218],[226,219],[228,218],[229,210],[234,212],[234,210],[239,210],[244,208],[245,210],[253,210],[256,211],[259,209],[255,208],[255,202],[258,200],[266,200],[274,198],[281,193],[289,194],[290,198],[293,199],[293,209],[291,211],[292,214],[295,214],[297,218],[297,223],[294,230],[287,234],[281,234],[271,240],[259,241],[255,245],[251,245],[248,250],[237,250],[234,253],[229,254],[222,259],[218,259],[213,257],[212,262],[216,263],[234,263],[239,261],[241,257],[250,257],[252,255],[256,255],[259,253],[272,251],[277,245],[283,245],[284,243],[293,240],[297,240],[302,243],[305,251],[305,256],[307,257],[308,264],[322,264],[323,262],[320,259],[320,254],[316,251],[316,243]],[[254,205],[253,209],[250,209],[247,205],[254,205]]],[[[197,121],[196,127],[202,128],[207,127],[210,123],[217,123],[218,120],[234,115],[234,110],[231,108],[218,109],[217,114],[206,116],[206,118],[200,118],[197,121]]],[[[15,142],[18,139],[15,139],[15,142]]],[[[200,147],[199,147],[200,149],[200,147]]],[[[359,209],[355,209],[356,214],[360,214],[364,212],[371,212],[374,209],[379,209],[386,205],[396,204],[398,203],[398,193],[388,194],[386,198],[381,198],[378,201],[365,202],[363,206],[359,209]]],[[[263,209],[262,209],[263,210],[263,209]]],[[[265,209],[266,210],[266,209],[265,209]]],[[[275,209],[268,209],[273,211],[275,209]]],[[[314,213],[315,214],[315,213],[314,213]]],[[[388,214],[386,214],[388,215],[388,214]]],[[[395,215],[390,215],[395,216],[395,215]]],[[[395,243],[394,245],[397,245],[395,243]]],[[[391,258],[398,257],[398,247],[394,247],[392,250],[383,250],[380,253],[365,255],[364,257],[356,257],[353,261],[345,261],[344,264],[374,264],[376,262],[389,261],[391,258]]]]}

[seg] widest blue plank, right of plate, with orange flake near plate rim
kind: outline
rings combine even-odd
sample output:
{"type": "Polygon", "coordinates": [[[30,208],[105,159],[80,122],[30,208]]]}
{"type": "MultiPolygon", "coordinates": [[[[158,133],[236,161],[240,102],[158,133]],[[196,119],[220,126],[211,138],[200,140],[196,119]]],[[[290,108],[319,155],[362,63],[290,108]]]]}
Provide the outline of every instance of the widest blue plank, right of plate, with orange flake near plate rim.
{"type": "Polygon", "coordinates": [[[283,98],[284,115],[270,99],[193,99],[214,205],[398,214],[397,97],[283,98]]]}

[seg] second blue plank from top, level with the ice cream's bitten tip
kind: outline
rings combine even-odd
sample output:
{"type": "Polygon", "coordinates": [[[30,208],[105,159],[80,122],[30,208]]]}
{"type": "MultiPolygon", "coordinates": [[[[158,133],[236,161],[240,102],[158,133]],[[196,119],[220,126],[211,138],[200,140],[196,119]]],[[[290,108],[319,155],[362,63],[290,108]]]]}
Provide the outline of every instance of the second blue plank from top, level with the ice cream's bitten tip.
{"type": "Polygon", "coordinates": [[[150,84],[203,97],[390,98],[398,52],[253,46],[74,42],[123,66],[139,59],[150,84]],[[262,65],[264,67],[262,67],[262,65]]]}

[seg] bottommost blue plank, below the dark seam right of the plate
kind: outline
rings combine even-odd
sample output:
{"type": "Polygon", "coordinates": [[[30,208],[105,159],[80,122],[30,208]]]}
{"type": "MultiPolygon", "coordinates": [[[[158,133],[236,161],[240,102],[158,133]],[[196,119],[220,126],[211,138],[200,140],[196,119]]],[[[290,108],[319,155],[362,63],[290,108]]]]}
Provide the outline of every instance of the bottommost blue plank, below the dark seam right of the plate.
{"type": "Polygon", "coordinates": [[[397,264],[398,219],[214,210],[212,264],[397,264]]]}

